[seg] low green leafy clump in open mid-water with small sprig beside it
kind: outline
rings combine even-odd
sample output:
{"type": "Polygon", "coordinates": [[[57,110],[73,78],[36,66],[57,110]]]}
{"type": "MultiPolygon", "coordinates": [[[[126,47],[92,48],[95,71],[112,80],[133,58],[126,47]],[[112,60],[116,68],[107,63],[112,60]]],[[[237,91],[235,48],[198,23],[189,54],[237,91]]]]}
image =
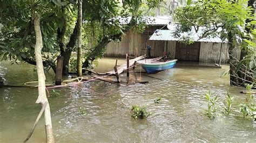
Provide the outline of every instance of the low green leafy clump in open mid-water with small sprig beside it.
{"type": "MultiPolygon", "coordinates": [[[[161,97],[155,99],[153,104],[160,103],[160,100],[161,100],[161,97]]],[[[144,119],[144,118],[151,116],[152,112],[147,112],[146,109],[147,109],[146,105],[144,105],[142,107],[140,107],[138,105],[133,105],[132,106],[132,112],[133,112],[132,117],[134,119],[138,119],[138,118],[144,119]]]]}

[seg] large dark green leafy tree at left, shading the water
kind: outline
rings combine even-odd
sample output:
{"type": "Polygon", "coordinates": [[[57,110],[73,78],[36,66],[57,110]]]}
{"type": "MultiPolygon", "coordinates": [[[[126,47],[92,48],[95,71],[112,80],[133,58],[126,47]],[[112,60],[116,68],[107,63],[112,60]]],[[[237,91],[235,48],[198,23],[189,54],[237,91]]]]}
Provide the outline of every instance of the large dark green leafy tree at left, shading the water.
{"type": "MultiPolygon", "coordinates": [[[[157,6],[161,0],[137,1],[127,0],[120,3],[116,0],[91,0],[83,1],[82,15],[86,23],[98,26],[98,34],[95,35],[92,48],[88,49],[83,67],[89,67],[90,63],[104,53],[105,45],[112,40],[120,40],[130,28],[138,25],[143,12],[142,5],[148,8],[157,6]],[[86,15],[85,15],[86,13],[86,15]],[[130,23],[122,24],[117,17],[132,17],[130,23]]],[[[0,55],[3,59],[15,59],[36,65],[35,62],[35,36],[31,24],[31,8],[26,1],[0,1],[0,17],[3,26],[0,32],[0,55]]],[[[36,1],[35,8],[41,15],[41,28],[43,37],[44,67],[50,66],[56,71],[55,58],[58,53],[64,57],[63,74],[69,74],[69,61],[71,52],[76,47],[78,36],[77,3],[69,0],[36,1]],[[76,24],[71,22],[76,20],[76,24]]]]}

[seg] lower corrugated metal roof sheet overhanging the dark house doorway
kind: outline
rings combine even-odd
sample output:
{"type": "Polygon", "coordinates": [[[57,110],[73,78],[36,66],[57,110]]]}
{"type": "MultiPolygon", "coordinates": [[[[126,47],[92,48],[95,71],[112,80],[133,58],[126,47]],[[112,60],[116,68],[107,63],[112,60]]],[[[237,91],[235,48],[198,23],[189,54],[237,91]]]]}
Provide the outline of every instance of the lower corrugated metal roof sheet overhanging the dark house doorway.
{"type": "MultiPolygon", "coordinates": [[[[200,38],[201,34],[203,34],[203,28],[199,28],[198,32],[193,30],[190,33],[184,32],[180,33],[180,38],[175,38],[173,32],[175,30],[176,25],[171,24],[168,25],[170,30],[156,30],[149,40],[160,40],[160,41],[181,41],[182,37],[189,37],[193,41],[199,42],[222,42],[221,39],[217,36],[209,36],[207,38],[200,38]]],[[[226,42],[226,41],[224,41],[226,42]]]]}

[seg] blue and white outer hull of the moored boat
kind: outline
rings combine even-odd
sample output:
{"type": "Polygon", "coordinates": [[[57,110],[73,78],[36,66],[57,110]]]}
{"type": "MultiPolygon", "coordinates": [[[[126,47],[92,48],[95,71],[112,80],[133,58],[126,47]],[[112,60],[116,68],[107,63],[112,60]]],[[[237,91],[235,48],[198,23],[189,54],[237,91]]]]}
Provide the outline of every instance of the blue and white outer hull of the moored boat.
{"type": "Polygon", "coordinates": [[[176,66],[177,60],[158,62],[158,63],[142,63],[142,68],[147,73],[157,73],[159,71],[167,70],[176,66]]]}

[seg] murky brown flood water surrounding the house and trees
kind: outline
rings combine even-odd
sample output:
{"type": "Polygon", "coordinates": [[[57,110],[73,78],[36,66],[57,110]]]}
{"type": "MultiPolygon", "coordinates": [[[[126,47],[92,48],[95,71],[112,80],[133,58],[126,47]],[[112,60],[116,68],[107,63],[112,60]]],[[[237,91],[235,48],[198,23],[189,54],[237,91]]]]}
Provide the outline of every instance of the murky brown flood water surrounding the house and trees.
{"type": "MultiPolygon", "coordinates": [[[[111,70],[115,59],[103,58],[96,68],[111,70]]],[[[118,63],[124,62],[123,59],[118,63]]],[[[0,63],[5,84],[23,85],[36,81],[34,66],[0,63]]],[[[218,77],[217,68],[183,67],[152,74],[162,80],[141,76],[148,84],[118,86],[103,81],[86,82],[55,89],[60,96],[49,97],[53,132],[57,142],[255,142],[256,123],[242,120],[239,103],[246,102],[243,89],[230,87],[227,77],[218,77]],[[224,94],[234,99],[233,114],[219,114],[217,119],[206,116],[205,92],[219,95],[223,110],[224,94]],[[161,97],[159,104],[153,100],[161,97]],[[150,105],[152,116],[131,118],[132,105],[150,105]]],[[[52,82],[53,73],[47,73],[52,82]]],[[[126,78],[125,74],[124,77],[126,78]]],[[[51,89],[49,90],[52,95],[51,89]]],[[[37,88],[0,88],[0,142],[22,142],[41,110],[35,104],[37,88]]],[[[44,120],[41,118],[29,142],[45,142],[44,120]]]]}

